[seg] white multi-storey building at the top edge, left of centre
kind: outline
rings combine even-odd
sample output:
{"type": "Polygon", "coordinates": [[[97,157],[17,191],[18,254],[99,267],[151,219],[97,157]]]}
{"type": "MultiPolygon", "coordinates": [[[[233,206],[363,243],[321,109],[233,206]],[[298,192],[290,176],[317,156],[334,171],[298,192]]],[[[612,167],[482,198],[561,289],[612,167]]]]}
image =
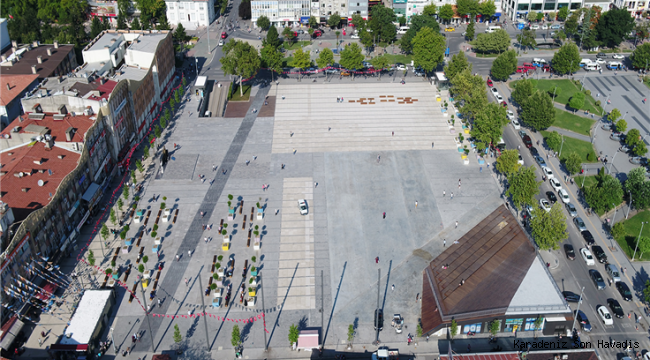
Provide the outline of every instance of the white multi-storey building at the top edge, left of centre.
{"type": "Polygon", "coordinates": [[[208,26],[215,19],[214,0],[166,1],[167,21],[183,24],[187,30],[208,26]]]}

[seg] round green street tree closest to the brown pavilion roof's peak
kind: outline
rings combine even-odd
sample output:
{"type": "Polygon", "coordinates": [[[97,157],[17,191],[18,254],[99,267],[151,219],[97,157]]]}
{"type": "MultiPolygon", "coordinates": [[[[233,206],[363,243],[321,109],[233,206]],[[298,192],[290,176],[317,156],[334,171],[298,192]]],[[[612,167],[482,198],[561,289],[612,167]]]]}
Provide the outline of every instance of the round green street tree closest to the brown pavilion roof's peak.
{"type": "Polygon", "coordinates": [[[536,207],[529,219],[531,235],[540,250],[557,250],[569,233],[566,231],[566,217],[562,205],[556,202],[551,211],[536,207]]]}

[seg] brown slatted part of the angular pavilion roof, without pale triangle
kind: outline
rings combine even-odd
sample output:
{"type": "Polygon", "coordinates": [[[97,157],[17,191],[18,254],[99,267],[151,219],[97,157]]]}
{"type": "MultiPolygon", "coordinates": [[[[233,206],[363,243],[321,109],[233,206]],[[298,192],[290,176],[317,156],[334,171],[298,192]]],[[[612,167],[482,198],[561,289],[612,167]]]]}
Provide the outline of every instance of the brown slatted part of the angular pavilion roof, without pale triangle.
{"type": "Polygon", "coordinates": [[[423,324],[434,325],[438,316],[447,322],[451,316],[505,313],[535,256],[535,248],[512,213],[504,206],[497,208],[425,269],[423,324]],[[427,303],[428,293],[432,301],[427,303]],[[439,312],[434,316],[429,308],[439,312]],[[433,318],[425,320],[427,314],[433,318]]]}

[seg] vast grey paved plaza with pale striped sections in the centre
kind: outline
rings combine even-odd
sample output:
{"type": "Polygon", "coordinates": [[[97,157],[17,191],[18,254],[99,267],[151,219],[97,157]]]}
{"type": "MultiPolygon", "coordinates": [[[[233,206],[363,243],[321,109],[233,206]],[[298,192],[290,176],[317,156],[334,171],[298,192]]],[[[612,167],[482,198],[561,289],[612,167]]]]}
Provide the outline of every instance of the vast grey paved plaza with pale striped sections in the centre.
{"type": "MultiPolygon", "coordinates": [[[[435,101],[436,90],[425,82],[280,84],[253,92],[251,110],[262,108],[265,96],[275,96],[274,117],[257,117],[249,111],[243,119],[196,118],[185,112],[165,135],[168,149],[174,143],[179,148],[172,151],[164,172],[156,165],[155,179],[142,198],[157,211],[162,199],[158,203],[150,199],[166,196],[167,206],[179,211],[175,223],[165,223],[164,231],[159,230],[164,233],[164,267],[157,295],[163,302],[153,312],[165,316],[205,312],[234,320],[259,315],[261,296],[255,306],[239,302],[237,289],[248,260],[249,274],[243,281],[248,287],[250,266],[259,268],[272,349],[287,348],[291,324],[322,329],[321,339],[330,349],[345,348],[347,326],[355,324],[355,346],[374,349],[370,343],[378,287],[386,316],[401,313],[414,332],[422,269],[443,250],[443,240],[453,246],[502,204],[492,167],[481,171],[471,154],[470,163],[462,163],[435,101]],[[336,101],[337,96],[343,103],[336,101]],[[233,220],[228,220],[229,194],[233,220]],[[308,215],[300,215],[298,199],[307,200],[308,215]],[[251,219],[257,202],[264,209],[263,220],[251,219]],[[223,236],[217,234],[222,219],[228,224],[227,251],[222,250],[223,236]],[[212,230],[204,231],[204,224],[212,224],[212,230]],[[252,243],[247,246],[249,230],[256,226],[262,235],[259,251],[252,243]],[[215,309],[210,306],[213,295],[203,293],[219,255],[222,267],[235,260],[233,277],[224,281],[233,284],[233,303],[215,309]]],[[[132,225],[132,236],[136,227],[132,225]]],[[[155,255],[151,237],[142,241],[150,257],[155,255]]],[[[120,259],[134,261],[136,250],[120,259]]],[[[128,296],[118,299],[115,341],[126,347],[130,334],[143,331],[146,335],[136,354],[150,351],[142,309],[127,300],[128,296]]],[[[173,343],[173,326],[178,324],[187,354],[201,357],[206,342],[202,323],[199,317],[151,318],[158,351],[173,343]]],[[[207,318],[213,358],[232,355],[233,324],[207,318]]],[[[242,322],[240,328],[246,348],[264,347],[262,321],[242,322]]],[[[402,343],[405,337],[398,338],[387,326],[380,339],[391,344],[402,343]]],[[[273,358],[273,352],[267,356],[273,358]]]]}

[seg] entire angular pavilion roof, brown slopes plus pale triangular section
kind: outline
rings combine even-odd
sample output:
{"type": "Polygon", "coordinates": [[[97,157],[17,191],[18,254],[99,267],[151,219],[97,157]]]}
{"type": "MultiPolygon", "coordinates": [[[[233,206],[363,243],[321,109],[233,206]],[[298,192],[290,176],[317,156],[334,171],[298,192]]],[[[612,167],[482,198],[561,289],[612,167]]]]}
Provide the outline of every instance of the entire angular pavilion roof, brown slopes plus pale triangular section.
{"type": "Polygon", "coordinates": [[[570,312],[532,243],[505,206],[458,242],[447,247],[424,271],[425,332],[451,321],[451,317],[462,320],[508,312],[570,312]]]}

